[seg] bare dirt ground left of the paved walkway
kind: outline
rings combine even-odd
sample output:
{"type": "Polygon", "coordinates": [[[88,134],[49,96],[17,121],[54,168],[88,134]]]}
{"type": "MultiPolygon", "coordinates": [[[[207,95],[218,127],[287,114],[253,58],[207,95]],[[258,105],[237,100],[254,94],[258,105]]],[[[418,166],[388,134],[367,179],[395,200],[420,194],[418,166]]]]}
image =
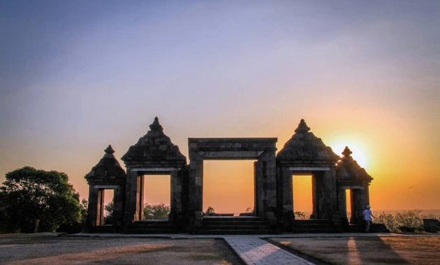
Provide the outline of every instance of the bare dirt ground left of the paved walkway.
{"type": "Polygon", "coordinates": [[[0,234],[0,264],[242,264],[223,240],[0,234]]]}

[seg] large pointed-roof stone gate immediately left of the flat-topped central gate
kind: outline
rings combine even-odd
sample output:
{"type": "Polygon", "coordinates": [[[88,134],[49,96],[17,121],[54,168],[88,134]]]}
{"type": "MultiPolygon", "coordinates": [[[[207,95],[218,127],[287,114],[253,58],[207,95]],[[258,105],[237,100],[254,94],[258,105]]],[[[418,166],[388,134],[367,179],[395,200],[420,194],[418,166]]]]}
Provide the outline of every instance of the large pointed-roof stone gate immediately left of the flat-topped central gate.
{"type": "Polygon", "coordinates": [[[143,219],[143,176],[170,175],[170,226],[182,227],[184,222],[184,188],[186,158],[170,137],[163,132],[157,117],[149,131],[129,148],[122,157],[127,169],[124,225],[143,219]]]}

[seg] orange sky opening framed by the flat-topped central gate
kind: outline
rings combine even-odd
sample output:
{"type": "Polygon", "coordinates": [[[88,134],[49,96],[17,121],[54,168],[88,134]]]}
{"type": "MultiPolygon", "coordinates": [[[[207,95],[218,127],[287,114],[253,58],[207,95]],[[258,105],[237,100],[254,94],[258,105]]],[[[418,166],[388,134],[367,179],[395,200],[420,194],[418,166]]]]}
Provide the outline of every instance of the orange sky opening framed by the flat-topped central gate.
{"type": "Polygon", "coordinates": [[[253,215],[254,207],[254,160],[203,161],[203,212],[253,215]]]}

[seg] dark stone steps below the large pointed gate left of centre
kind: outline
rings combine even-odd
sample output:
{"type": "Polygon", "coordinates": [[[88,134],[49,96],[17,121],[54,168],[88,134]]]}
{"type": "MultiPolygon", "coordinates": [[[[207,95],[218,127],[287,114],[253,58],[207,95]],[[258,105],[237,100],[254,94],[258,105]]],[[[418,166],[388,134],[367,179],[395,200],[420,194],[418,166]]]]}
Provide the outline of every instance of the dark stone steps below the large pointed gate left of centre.
{"type": "Polygon", "coordinates": [[[124,231],[126,234],[173,234],[175,232],[168,220],[135,221],[124,231]]]}

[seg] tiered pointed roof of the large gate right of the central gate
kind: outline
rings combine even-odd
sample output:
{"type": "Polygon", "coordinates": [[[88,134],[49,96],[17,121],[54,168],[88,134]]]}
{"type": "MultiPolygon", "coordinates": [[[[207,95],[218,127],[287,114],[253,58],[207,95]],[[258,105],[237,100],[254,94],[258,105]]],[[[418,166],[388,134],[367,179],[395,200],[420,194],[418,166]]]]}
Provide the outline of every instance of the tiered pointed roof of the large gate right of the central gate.
{"type": "Polygon", "coordinates": [[[277,154],[280,164],[303,167],[328,167],[335,166],[339,156],[326,146],[321,138],[316,137],[310,128],[301,119],[295,134],[284,144],[283,149],[277,154]]]}

